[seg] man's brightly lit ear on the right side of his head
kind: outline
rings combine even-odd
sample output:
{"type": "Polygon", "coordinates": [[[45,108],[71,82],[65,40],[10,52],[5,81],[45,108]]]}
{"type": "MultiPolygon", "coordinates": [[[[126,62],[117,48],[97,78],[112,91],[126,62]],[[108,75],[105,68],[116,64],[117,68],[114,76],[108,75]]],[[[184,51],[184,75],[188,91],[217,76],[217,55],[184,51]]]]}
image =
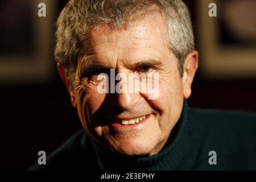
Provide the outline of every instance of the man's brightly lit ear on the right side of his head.
{"type": "Polygon", "coordinates": [[[198,57],[198,52],[192,51],[187,55],[184,61],[182,77],[184,98],[189,98],[191,96],[191,85],[198,68],[198,57]]]}

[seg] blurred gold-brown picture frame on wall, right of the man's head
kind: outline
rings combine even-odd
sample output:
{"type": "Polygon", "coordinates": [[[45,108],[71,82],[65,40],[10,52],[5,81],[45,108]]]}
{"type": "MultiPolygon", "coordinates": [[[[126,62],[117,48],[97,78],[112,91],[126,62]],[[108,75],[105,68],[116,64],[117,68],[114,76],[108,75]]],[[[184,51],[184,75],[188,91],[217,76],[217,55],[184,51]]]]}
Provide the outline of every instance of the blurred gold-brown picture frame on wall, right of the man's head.
{"type": "Polygon", "coordinates": [[[256,78],[256,1],[197,1],[199,71],[208,79],[256,78]],[[217,16],[209,16],[215,3],[217,16]]]}

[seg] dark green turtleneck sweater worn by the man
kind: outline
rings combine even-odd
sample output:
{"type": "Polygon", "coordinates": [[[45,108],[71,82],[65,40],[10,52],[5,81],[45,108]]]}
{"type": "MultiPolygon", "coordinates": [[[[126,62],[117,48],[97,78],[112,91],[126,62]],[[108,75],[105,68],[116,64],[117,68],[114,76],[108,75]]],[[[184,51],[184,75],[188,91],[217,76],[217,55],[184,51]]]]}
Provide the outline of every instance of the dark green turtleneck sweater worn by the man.
{"type": "Polygon", "coordinates": [[[148,157],[114,155],[79,131],[31,170],[256,170],[256,114],[188,108],[171,134],[170,146],[148,157]],[[209,164],[216,151],[217,164],[209,164]]]}

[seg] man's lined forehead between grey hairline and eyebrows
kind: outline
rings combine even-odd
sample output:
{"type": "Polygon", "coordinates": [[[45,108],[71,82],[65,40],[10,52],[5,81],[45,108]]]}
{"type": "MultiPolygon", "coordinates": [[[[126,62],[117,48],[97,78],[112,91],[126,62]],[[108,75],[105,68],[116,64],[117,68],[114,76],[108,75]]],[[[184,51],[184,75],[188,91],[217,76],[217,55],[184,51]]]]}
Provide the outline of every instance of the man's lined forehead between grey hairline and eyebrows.
{"type": "Polygon", "coordinates": [[[97,60],[108,60],[110,57],[131,60],[150,54],[151,57],[160,55],[169,51],[166,30],[166,19],[158,12],[145,15],[121,30],[109,30],[103,24],[90,31],[84,52],[85,55],[97,57],[97,60]]]}

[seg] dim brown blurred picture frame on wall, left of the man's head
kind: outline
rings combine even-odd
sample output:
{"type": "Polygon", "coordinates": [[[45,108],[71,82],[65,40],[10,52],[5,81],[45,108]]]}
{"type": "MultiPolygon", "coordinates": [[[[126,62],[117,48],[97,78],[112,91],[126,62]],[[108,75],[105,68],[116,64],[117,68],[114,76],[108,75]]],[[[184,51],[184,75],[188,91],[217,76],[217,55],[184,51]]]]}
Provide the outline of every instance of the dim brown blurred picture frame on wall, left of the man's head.
{"type": "Polygon", "coordinates": [[[1,0],[0,83],[44,82],[52,74],[55,1],[1,0]],[[46,4],[46,17],[38,4],[46,4]]]}

